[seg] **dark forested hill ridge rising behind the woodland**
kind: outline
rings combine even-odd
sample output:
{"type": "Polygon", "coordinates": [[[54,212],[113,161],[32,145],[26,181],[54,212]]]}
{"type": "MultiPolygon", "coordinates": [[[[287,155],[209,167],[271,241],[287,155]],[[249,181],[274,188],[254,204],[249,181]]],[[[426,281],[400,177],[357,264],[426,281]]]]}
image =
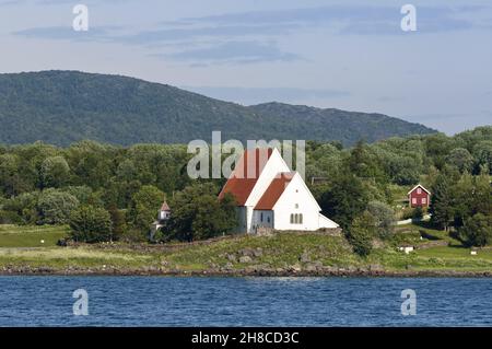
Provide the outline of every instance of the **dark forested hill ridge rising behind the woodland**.
{"type": "Polygon", "coordinates": [[[222,139],[373,142],[434,130],[382,114],[268,103],[242,106],[166,84],[77,71],[0,74],[0,143],[115,144],[222,139]]]}

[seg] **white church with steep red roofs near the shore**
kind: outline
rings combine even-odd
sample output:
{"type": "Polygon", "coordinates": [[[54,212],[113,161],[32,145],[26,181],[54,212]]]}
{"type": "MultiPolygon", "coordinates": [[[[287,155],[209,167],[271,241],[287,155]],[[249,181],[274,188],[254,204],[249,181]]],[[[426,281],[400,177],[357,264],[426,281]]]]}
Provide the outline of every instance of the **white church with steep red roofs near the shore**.
{"type": "Polygon", "coordinates": [[[277,149],[246,150],[219,198],[230,193],[238,206],[237,232],[258,229],[316,231],[339,225],[320,213],[297,172],[291,172],[277,149]]]}

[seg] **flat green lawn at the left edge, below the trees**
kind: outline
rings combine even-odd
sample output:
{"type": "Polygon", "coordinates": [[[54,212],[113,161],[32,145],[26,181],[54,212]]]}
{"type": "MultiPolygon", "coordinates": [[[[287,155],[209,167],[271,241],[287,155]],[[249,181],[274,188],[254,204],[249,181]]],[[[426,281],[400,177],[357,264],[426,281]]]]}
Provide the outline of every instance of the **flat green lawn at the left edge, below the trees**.
{"type": "Polygon", "coordinates": [[[0,225],[0,247],[49,247],[66,237],[66,225],[19,226],[0,225]],[[44,241],[44,243],[42,243],[44,241]]]}

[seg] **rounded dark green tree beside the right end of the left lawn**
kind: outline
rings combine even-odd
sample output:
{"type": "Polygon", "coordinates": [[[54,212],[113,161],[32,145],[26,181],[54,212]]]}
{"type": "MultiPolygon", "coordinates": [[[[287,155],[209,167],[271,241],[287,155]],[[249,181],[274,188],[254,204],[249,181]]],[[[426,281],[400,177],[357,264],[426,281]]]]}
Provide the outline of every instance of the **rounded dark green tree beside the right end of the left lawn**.
{"type": "Polygon", "coordinates": [[[112,240],[109,212],[93,206],[81,206],[70,214],[70,236],[78,242],[96,243],[112,240]]]}

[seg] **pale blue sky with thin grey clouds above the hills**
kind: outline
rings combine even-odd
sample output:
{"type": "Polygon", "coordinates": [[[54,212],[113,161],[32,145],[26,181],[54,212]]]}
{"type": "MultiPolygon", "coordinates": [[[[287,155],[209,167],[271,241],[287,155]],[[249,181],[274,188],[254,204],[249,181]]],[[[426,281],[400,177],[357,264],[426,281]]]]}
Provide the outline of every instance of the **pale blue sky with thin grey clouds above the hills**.
{"type": "Polygon", "coordinates": [[[0,0],[0,72],[72,69],[242,104],[378,112],[446,133],[492,124],[488,1],[0,0]],[[72,8],[89,8],[74,32],[72,8]],[[402,32],[400,8],[417,8],[402,32]]]}

